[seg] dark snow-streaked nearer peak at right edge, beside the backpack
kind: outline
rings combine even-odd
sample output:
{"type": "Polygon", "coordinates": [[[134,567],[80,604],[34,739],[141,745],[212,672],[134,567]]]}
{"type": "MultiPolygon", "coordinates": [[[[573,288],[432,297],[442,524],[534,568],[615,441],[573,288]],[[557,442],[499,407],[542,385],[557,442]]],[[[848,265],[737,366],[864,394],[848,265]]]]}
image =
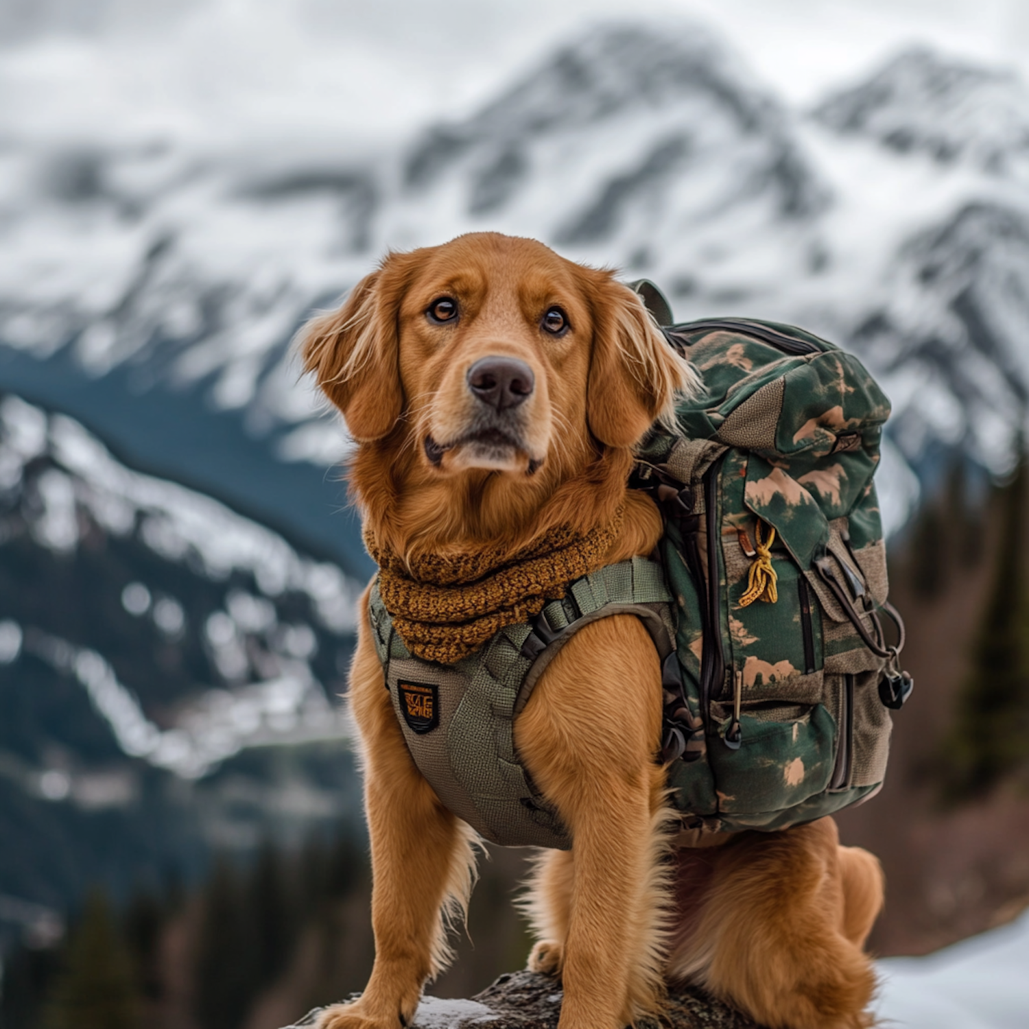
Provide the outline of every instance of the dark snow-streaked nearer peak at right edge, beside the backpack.
{"type": "Polygon", "coordinates": [[[913,463],[963,449],[1004,467],[1029,398],[1029,208],[969,200],[907,240],[890,272],[848,338],[887,384],[893,438],[913,463]]]}

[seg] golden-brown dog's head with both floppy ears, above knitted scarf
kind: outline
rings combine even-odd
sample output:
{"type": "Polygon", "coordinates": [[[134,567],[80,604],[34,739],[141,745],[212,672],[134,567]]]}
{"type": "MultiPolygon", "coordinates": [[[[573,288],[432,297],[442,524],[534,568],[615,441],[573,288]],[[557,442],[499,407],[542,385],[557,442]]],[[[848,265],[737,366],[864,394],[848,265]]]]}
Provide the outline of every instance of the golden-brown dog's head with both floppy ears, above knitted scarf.
{"type": "Polygon", "coordinates": [[[611,273],[493,233],[390,254],[301,352],[355,439],[402,433],[438,476],[631,448],[695,381],[611,273]]]}

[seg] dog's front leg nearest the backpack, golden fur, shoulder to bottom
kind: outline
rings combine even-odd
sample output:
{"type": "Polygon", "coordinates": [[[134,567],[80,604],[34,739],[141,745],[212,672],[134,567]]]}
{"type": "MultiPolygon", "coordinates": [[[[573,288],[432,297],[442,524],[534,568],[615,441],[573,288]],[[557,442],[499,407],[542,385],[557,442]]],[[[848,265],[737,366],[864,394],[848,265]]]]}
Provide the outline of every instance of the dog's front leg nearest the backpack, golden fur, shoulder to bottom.
{"type": "MultiPolygon", "coordinates": [[[[530,900],[537,924],[559,934],[566,926],[560,1029],[620,1029],[661,1003],[661,696],[653,644],[637,618],[619,615],[565,645],[516,726],[519,751],[573,839],[571,859],[548,861],[530,900]]],[[[545,941],[536,959],[549,961],[561,943],[545,941]]]]}

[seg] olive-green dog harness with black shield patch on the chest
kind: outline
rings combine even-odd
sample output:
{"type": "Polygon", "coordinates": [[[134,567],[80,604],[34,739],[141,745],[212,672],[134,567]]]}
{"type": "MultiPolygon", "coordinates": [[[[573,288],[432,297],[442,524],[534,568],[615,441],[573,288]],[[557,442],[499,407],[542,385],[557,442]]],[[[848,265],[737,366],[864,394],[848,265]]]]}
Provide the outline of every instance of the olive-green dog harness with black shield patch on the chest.
{"type": "MultiPolygon", "coordinates": [[[[671,599],[662,566],[632,558],[576,579],[531,622],[507,626],[469,657],[440,665],[404,646],[377,582],[368,615],[386,686],[407,749],[443,807],[491,843],[569,849],[566,827],[516,751],[514,719],[558,651],[600,618],[636,615],[664,663],[675,649],[671,599]]],[[[589,669],[582,686],[589,717],[589,669]]]]}

